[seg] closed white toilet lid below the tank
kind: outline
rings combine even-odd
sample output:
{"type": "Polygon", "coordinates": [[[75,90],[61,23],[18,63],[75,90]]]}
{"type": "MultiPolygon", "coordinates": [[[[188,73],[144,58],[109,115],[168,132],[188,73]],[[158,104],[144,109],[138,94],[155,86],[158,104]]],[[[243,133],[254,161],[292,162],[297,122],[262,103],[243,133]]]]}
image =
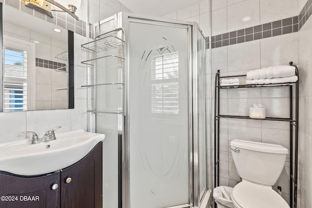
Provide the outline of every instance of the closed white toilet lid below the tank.
{"type": "Polygon", "coordinates": [[[232,197],[241,208],[289,208],[287,202],[271,187],[246,181],[234,187],[232,197]]]}

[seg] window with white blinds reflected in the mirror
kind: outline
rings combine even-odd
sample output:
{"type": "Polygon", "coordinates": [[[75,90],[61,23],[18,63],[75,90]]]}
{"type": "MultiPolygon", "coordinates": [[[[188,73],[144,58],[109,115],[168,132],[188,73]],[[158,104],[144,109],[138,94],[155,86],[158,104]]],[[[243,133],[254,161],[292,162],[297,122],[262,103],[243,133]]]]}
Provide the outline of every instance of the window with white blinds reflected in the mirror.
{"type": "Polygon", "coordinates": [[[27,52],[4,47],[3,111],[27,110],[27,52]]]}

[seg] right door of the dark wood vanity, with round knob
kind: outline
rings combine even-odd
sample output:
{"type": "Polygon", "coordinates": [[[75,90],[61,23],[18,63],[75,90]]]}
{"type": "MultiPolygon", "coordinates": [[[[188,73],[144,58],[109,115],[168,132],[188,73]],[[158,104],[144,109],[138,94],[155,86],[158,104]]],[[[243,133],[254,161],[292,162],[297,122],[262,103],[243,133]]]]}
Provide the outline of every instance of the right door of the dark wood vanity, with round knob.
{"type": "Polygon", "coordinates": [[[61,208],[102,208],[102,142],[62,170],[61,208]]]}

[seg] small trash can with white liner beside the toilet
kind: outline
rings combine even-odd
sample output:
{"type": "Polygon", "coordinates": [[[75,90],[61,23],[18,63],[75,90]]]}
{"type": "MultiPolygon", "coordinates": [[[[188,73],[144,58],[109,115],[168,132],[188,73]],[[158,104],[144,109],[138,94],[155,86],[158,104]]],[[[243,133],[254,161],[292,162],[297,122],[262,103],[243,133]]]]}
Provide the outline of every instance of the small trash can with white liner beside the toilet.
{"type": "Polygon", "coordinates": [[[214,198],[217,208],[234,208],[232,202],[233,188],[220,186],[214,189],[214,198]]]}

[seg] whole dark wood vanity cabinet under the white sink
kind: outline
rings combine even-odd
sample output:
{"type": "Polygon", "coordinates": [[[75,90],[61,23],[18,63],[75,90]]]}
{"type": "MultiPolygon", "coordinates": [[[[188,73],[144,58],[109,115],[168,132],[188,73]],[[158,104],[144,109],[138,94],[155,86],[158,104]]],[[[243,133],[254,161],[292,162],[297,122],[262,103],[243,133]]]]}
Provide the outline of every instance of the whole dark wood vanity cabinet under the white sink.
{"type": "Polygon", "coordinates": [[[0,174],[1,196],[0,208],[102,208],[102,142],[76,164],[52,174],[0,174]]]}

